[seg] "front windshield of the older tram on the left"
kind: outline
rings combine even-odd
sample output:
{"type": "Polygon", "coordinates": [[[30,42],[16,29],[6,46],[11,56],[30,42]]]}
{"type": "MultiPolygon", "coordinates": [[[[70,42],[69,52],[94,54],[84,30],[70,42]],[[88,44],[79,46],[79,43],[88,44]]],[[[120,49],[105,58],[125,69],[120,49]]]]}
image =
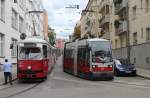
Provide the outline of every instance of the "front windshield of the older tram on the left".
{"type": "Polygon", "coordinates": [[[42,57],[41,50],[38,47],[21,47],[19,59],[40,59],[42,57]]]}

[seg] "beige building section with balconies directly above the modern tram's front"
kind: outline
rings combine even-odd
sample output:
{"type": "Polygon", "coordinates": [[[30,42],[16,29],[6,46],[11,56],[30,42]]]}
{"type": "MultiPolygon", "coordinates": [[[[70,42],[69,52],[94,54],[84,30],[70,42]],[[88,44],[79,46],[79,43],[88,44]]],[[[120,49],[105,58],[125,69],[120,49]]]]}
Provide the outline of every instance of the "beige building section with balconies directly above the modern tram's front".
{"type": "Polygon", "coordinates": [[[117,16],[114,14],[113,0],[101,0],[99,4],[101,18],[99,27],[101,28],[101,38],[110,39],[114,35],[114,21],[117,16]]]}

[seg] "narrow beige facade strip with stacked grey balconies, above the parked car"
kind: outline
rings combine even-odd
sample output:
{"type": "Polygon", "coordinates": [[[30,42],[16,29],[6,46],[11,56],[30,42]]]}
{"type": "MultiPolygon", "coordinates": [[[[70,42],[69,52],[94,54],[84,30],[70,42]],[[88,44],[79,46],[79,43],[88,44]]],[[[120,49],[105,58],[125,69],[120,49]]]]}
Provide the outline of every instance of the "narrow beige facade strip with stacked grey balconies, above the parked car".
{"type": "Polygon", "coordinates": [[[118,18],[114,21],[115,34],[112,36],[113,49],[127,47],[128,38],[128,0],[122,0],[122,2],[117,3],[116,0],[114,4],[114,14],[118,18]]]}

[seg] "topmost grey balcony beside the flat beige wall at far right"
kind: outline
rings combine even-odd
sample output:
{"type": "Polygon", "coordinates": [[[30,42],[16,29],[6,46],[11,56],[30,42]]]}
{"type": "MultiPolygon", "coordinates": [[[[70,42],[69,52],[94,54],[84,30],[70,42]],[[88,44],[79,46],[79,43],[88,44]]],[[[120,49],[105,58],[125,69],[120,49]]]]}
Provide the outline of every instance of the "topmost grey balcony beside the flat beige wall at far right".
{"type": "Polygon", "coordinates": [[[116,4],[115,5],[115,14],[119,14],[120,12],[122,12],[122,10],[127,7],[127,4],[128,4],[128,0],[122,0],[122,3],[116,4]]]}

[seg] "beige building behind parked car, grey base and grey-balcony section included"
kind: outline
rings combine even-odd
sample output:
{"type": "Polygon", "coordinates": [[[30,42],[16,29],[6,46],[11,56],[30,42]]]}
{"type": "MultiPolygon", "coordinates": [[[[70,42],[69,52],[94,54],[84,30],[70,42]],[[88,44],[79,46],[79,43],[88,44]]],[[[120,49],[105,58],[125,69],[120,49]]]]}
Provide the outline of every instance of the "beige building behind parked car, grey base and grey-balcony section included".
{"type": "Polygon", "coordinates": [[[150,69],[150,1],[115,0],[115,14],[119,19],[112,39],[114,57],[127,58],[130,53],[131,63],[150,69]]]}

